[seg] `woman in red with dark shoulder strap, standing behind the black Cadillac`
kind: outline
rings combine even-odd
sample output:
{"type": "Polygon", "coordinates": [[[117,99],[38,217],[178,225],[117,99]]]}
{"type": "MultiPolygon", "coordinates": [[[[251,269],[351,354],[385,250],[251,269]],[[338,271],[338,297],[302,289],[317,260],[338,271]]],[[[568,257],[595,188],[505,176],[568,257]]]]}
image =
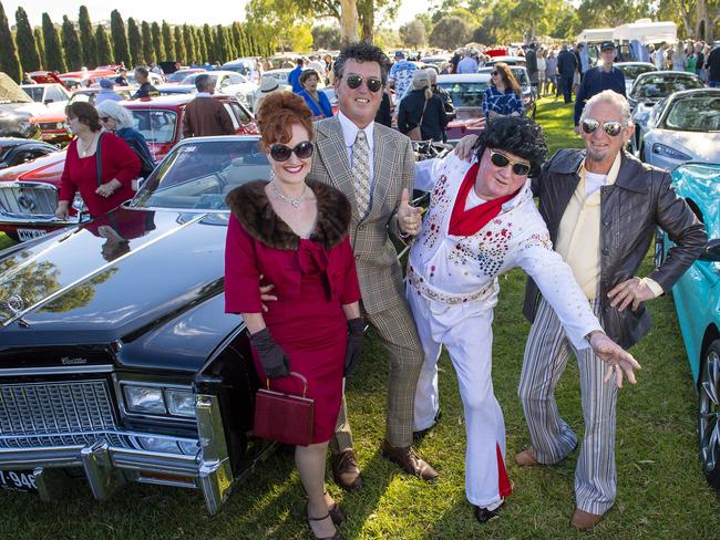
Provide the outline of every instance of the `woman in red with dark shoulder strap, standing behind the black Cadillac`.
{"type": "Polygon", "coordinates": [[[132,199],[135,195],[133,180],[141,170],[140,158],[132,148],[114,133],[101,131],[97,111],[90,103],[68,105],[65,114],[76,137],[65,154],[55,216],[68,219],[70,205],[78,190],[92,217],[101,216],[132,199]]]}

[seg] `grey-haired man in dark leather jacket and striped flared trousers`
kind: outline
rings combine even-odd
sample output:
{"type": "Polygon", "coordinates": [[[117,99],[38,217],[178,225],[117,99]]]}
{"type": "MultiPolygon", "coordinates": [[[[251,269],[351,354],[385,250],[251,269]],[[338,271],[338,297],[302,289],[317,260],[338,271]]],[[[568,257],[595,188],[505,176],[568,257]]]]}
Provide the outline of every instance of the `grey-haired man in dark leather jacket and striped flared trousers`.
{"type": "MultiPolygon", "coordinates": [[[[625,96],[610,90],[596,94],[580,117],[585,149],[557,152],[533,183],[555,249],[573,268],[607,335],[625,349],[650,330],[645,302],[670,290],[707,242],[703,224],[677,196],[670,175],[624,150],[632,132],[625,96]],[[676,246],[659,268],[639,278],[637,271],[658,227],[676,246]]],[[[515,460],[551,465],[577,445],[554,397],[555,385],[575,351],[532,280],[523,311],[533,325],[518,395],[532,447],[515,460]]],[[[594,355],[576,355],[585,437],[575,472],[576,509],[570,523],[587,530],[615,502],[617,388],[603,383],[603,363],[594,355]]]]}

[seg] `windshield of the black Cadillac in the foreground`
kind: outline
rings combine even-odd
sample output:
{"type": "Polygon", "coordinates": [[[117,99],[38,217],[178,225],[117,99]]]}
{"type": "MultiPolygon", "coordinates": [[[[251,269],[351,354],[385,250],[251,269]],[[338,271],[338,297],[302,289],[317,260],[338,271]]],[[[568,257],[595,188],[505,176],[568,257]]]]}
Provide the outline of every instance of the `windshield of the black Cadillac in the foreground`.
{"type": "Polygon", "coordinates": [[[227,210],[225,197],[234,188],[269,177],[270,165],[255,137],[184,144],[167,155],[132,205],[141,208],[227,210]]]}

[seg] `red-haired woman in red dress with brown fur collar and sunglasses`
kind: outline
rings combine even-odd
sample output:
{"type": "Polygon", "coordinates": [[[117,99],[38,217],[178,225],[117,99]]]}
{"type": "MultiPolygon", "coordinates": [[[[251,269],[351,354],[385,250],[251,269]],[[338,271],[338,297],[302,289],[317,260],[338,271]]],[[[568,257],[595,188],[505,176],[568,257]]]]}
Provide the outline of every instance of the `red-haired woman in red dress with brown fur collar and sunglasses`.
{"type": "Polygon", "coordinates": [[[340,411],[342,377],[360,355],[360,288],[348,238],[350,204],[331,186],[306,181],[312,115],[290,92],[268,95],[257,113],[270,181],[234,189],[225,251],[225,311],[243,315],[258,374],[272,388],[315,399],[312,444],[295,459],[316,538],[339,539],[344,516],[325,490],[325,461],[340,411]],[[278,300],[264,312],[260,279],[278,300]]]}

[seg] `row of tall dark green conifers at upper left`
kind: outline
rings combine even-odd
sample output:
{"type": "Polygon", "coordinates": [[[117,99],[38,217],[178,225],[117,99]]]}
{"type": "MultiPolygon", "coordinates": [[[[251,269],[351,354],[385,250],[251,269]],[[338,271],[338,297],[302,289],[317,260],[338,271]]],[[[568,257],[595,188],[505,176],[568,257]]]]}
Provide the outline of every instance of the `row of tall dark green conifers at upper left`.
{"type": "Polygon", "coordinates": [[[16,81],[23,72],[48,70],[64,73],[97,65],[136,66],[161,61],[183,64],[227,62],[241,56],[269,56],[270,41],[239,22],[230,25],[182,24],[123,20],[117,10],[110,14],[110,29],[93,24],[85,6],[78,21],[63,15],[62,24],[42,13],[41,27],[30,25],[22,7],[16,11],[11,30],[0,2],[0,71],[16,81]]]}

